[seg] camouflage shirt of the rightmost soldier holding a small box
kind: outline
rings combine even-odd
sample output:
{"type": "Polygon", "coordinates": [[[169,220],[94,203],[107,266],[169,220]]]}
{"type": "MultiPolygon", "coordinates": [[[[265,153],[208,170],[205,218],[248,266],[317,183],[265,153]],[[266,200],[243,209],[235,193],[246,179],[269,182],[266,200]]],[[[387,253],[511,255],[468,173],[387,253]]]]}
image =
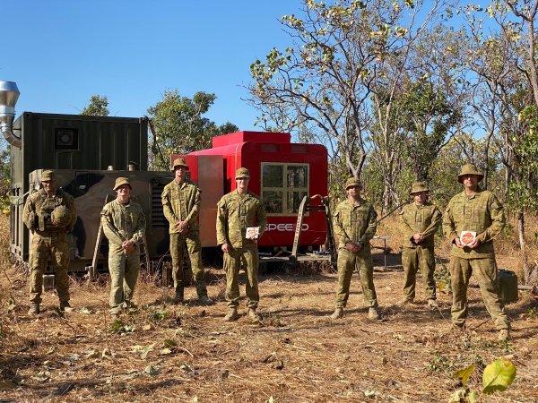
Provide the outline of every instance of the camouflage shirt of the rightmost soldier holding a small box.
{"type": "Polygon", "coordinates": [[[501,202],[489,191],[478,188],[476,194],[467,196],[464,192],[456,194],[448,203],[443,218],[443,232],[454,244],[453,256],[463,258],[484,258],[494,256],[492,240],[506,225],[501,202]],[[455,239],[462,231],[476,232],[480,245],[474,249],[458,248],[455,239]]]}

